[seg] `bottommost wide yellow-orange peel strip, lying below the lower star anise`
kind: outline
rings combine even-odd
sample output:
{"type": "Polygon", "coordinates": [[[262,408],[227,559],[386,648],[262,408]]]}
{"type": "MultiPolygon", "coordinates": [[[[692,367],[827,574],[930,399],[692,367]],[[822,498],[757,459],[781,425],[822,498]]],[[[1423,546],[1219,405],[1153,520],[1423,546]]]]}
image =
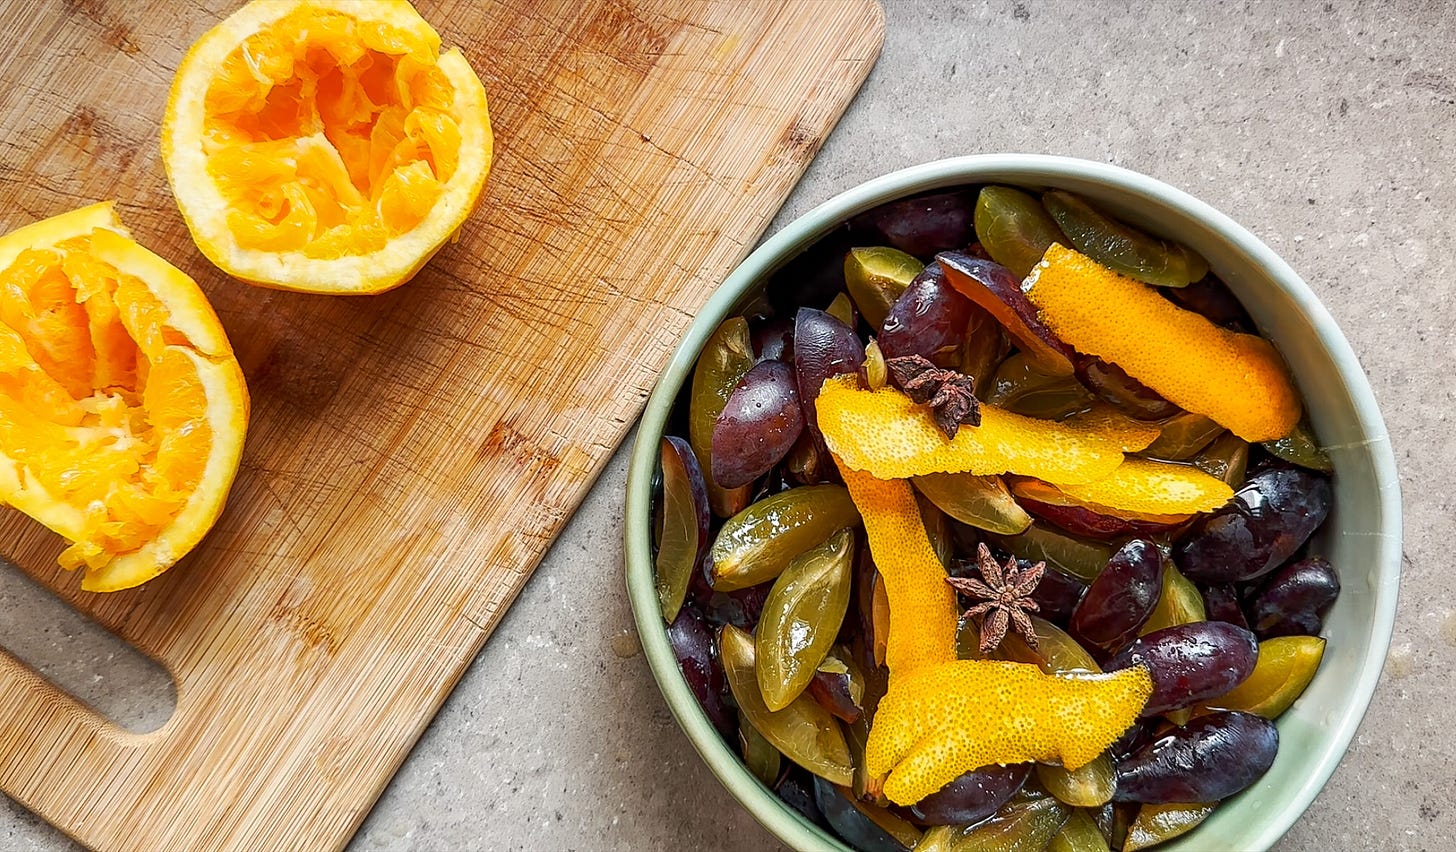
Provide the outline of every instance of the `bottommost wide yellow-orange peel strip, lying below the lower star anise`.
{"type": "Polygon", "coordinates": [[[1143,667],[1045,674],[1025,663],[955,660],[893,677],[865,746],[871,778],[914,804],[964,772],[993,763],[1060,762],[1070,770],[1105,752],[1153,692],[1143,667]]]}

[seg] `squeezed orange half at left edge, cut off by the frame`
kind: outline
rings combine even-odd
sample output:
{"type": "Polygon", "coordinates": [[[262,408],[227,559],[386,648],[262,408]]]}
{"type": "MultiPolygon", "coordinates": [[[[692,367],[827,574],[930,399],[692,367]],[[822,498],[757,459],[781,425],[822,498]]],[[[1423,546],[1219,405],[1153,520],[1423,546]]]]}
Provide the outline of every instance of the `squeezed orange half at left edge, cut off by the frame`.
{"type": "Polygon", "coordinates": [[[109,202],[0,237],[0,504],[71,542],[82,588],[140,585],[191,551],[246,428],[207,297],[109,202]]]}

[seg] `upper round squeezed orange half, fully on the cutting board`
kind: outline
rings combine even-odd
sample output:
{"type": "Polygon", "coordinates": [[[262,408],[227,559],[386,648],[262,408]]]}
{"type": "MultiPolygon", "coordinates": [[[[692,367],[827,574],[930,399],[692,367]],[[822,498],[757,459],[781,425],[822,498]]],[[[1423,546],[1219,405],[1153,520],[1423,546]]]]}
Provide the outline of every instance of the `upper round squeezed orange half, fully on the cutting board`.
{"type": "Polygon", "coordinates": [[[250,281],[380,293],[475,210],[485,89],[405,0],[253,0],[182,58],[162,159],[198,249],[250,281]]]}

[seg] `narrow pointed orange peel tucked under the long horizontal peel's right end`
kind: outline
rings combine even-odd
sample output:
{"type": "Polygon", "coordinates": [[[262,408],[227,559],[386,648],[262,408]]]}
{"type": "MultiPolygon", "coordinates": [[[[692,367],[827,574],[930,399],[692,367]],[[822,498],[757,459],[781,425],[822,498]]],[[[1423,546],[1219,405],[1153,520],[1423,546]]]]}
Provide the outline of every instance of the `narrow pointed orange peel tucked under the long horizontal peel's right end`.
{"type": "Polygon", "coordinates": [[[1159,523],[1187,520],[1187,516],[1213,511],[1233,498],[1233,489],[1223,479],[1188,465],[1149,459],[1127,459],[1102,479],[1082,485],[1022,481],[1012,482],[1010,489],[1029,500],[1060,502],[1054,500],[1060,495],[1101,514],[1159,523]]]}

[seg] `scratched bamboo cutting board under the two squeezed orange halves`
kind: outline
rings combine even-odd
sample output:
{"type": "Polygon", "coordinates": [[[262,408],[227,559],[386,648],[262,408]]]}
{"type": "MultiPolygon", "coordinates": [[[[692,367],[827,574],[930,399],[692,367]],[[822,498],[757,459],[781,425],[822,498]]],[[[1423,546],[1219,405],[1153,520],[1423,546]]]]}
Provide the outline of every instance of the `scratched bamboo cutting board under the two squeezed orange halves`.
{"type": "Polygon", "coordinates": [[[872,0],[419,0],[485,82],[495,167],[459,243],[345,299],[226,278],[172,202],[172,71],[232,7],[0,0],[0,229],[118,200],[253,401],[226,514],[138,590],[82,593],[0,511],[0,552],[176,682],[131,734],[0,660],[0,788],[103,849],[348,840],[882,35],[872,0]]]}

